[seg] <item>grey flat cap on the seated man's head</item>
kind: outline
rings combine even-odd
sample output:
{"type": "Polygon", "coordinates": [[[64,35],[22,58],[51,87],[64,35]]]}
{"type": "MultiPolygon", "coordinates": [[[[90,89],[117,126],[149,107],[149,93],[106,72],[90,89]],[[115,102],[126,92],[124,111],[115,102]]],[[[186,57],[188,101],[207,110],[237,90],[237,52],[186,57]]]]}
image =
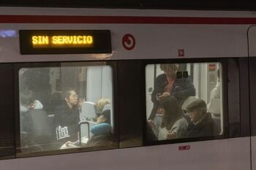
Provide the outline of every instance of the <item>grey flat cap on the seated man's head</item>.
{"type": "Polygon", "coordinates": [[[206,102],[194,96],[188,97],[186,101],[184,101],[184,104],[182,104],[182,109],[184,110],[192,110],[198,107],[207,107],[206,102]]]}

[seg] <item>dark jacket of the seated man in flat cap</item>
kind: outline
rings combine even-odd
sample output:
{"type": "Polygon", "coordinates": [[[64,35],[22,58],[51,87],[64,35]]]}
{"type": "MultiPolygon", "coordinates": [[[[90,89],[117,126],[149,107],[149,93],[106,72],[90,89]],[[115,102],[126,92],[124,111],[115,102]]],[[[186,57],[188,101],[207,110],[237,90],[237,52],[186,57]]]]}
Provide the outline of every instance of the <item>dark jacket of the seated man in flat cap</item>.
{"type": "Polygon", "coordinates": [[[217,126],[211,118],[210,113],[207,113],[206,117],[196,125],[194,123],[189,123],[189,127],[187,128],[188,137],[214,136],[216,134],[217,126]]]}

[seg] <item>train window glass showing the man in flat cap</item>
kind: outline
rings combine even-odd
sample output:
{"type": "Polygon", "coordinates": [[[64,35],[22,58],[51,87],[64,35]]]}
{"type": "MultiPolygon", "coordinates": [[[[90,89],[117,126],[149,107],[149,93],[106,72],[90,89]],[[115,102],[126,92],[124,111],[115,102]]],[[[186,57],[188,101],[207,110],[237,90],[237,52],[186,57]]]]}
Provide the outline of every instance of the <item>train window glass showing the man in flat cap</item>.
{"type": "Polygon", "coordinates": [[[223,134],[221,63],[146,66],[148,141],[223,134]]]}

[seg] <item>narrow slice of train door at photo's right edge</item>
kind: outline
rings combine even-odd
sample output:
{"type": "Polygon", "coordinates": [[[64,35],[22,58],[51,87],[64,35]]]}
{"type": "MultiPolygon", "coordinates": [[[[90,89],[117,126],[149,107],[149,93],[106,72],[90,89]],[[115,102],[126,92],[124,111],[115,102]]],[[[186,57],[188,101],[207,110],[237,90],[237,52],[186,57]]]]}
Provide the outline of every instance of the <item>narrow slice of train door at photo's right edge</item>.
{"type": "Polygon", "coordinates": [[[256,27],[248,29],[249,42],[249,94],[250,94],[250,125],[251,125],[251,150],[252,170],[256,169],[256,27]]]}

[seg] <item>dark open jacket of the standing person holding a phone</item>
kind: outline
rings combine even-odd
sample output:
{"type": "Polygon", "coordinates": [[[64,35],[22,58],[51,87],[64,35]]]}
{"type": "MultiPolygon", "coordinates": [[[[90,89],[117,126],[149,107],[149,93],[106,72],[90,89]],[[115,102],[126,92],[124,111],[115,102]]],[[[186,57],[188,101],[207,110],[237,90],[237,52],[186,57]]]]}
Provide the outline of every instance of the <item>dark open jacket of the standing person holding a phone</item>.
{"type": "MultiPolygon", "coordinates": [[[[154,82],[154,90],[151,95],[151,101],[154,103],[154,107],[151,111],[149,119],[154,120],[154,117],[159,107],[159,101],[157,101],[157,93],[163,93],[165,86],[168,84],[165,74],[160,74],[154,82]]],[[[187,97],[195,96],[195,86],[193,85],[190,77],[176,78],[173,83],[173,88],[170,93],[170,97],[174,97],[181,104],[187,97]]]]}

